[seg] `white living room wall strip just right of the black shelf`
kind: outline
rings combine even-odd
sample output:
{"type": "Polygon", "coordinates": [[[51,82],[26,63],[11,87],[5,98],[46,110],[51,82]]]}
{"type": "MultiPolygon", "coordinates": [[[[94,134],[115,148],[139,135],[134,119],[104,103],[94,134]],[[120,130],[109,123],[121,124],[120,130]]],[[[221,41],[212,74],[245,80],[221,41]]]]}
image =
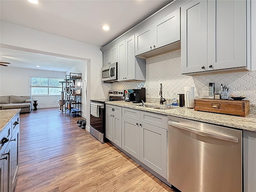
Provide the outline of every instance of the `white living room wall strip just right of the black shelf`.
{"type": "MultiPolygon", "coordinates": [[[[82,62],[81,64],[78,64],[74,66],[72,69],[68,70],[66,72],[67,75],[69,73],[82,73],[82,79],[86,80],[86,83],[84,80],[82,80],[82,116],[86,118],[87,112],[86,112],[86,107],[87,107],[87,101],[86,101],[86,84],[87,84],[87,60],[82,62]]],[[[90,106],[90,104],[88,105],[90,106]]],[[[89,116],[90,117],[90,116],[89,116]]]]}

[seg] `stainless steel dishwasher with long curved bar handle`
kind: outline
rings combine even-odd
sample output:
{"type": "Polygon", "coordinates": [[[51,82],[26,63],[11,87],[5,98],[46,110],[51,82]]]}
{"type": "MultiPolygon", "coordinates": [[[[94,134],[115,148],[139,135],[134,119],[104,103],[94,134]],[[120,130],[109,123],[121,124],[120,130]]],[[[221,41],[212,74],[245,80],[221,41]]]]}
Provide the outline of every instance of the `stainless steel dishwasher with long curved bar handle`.
{"type": "Polygon", "coordinates": [[[168,116],[168,182],[182,192],[242,192],[242,130],[168,116]]]}

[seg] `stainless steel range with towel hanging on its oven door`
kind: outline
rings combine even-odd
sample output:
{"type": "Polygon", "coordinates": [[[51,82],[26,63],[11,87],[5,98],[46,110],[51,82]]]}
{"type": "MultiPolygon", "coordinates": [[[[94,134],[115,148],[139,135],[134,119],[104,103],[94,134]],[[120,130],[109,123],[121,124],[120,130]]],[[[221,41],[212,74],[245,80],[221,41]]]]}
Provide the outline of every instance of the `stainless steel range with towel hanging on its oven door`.
{"type": "Polygon", "coordinates": [[[90,100],[90,106],[97,105],[98,107],[98,117],[90,113],[90,134],[95,138],[100,140],[100,142],[105,142],[105,133],[106,133],[106,116],[105,116],[105,102],[106,101],[117,101],[124,100],[125,90],[109,90],[108,98],[106,99],[92,99],[90,100]]]}

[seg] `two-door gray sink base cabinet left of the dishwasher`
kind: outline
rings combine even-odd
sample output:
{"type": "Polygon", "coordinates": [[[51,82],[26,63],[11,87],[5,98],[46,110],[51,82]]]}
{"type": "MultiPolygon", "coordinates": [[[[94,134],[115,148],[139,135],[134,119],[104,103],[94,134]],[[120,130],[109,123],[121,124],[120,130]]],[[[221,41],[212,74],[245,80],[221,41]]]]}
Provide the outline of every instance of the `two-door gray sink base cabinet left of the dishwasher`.
{"type": "Polygon", "coordinates": [[[167,179],[167,116],[122,108],[122,149],[167,179]]]}

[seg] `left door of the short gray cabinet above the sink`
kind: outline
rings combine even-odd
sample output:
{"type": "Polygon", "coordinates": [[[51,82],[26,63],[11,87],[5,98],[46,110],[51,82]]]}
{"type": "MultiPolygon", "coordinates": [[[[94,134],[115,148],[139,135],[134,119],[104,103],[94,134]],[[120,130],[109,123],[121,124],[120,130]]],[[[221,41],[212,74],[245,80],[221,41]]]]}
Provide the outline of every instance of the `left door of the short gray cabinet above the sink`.
{"type": "Polygon", "coordinates": [[[135,55],[152,50],[153,33],[153,26],[150,25],[135,34],[135,55]]]}

